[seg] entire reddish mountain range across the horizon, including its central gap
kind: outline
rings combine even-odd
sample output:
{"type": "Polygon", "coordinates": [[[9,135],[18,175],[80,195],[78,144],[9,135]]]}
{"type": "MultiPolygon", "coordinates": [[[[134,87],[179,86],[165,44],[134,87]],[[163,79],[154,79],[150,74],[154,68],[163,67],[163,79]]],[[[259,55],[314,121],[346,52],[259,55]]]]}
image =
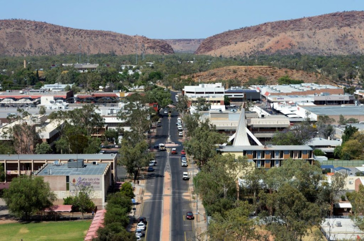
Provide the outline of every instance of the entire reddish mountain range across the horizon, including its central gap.
{"type": "Polygon", "coordinates": [[[0,55],[82,53],[173,54],[240,57],[261,54],[364,53],[364,11],[336,12],[244,27],[206,39],[150,39],[29,20],[0,20],[0,55]]]}

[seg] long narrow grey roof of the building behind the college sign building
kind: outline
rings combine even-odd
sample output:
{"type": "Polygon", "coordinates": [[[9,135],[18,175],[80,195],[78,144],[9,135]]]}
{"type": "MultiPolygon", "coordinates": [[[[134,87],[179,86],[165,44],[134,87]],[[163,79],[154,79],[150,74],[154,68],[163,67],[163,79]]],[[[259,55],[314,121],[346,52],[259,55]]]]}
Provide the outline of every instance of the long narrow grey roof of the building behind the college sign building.
{"type": "Polygon", "coordinates": [[[113,160],[116,154],[10,154],[0,155],[0,160],[69,160],[69,159],[84,159],[84,160],[113,160]]]}

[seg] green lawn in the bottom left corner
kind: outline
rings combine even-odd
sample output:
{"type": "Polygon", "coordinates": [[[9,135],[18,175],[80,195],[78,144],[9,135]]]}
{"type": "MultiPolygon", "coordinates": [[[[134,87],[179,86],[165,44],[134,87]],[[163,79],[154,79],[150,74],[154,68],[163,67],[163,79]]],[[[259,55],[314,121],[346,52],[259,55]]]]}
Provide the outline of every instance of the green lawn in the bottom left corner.
{"type": "Polygon", "coordinates": [[[0,241],[83,241],[91,220],[0,225],[0,241]]]}

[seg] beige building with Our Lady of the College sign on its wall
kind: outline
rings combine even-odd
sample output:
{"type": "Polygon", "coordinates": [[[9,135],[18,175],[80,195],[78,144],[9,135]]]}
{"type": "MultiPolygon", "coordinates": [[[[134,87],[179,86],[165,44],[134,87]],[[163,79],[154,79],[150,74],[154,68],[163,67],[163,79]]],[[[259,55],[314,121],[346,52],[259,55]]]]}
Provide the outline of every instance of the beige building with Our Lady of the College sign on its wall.
{"type": "Polygon", "coordinates": [[[105,207],[105,199],[112,185],[110,164],[93,161],[85,164],[83,159],[47,163],[35,175],[42,176],[56,195],[54,205],[62,205],[63,199],[75,195],[82,187],[91,187],[92,202],[98,209],[105,207]]]}

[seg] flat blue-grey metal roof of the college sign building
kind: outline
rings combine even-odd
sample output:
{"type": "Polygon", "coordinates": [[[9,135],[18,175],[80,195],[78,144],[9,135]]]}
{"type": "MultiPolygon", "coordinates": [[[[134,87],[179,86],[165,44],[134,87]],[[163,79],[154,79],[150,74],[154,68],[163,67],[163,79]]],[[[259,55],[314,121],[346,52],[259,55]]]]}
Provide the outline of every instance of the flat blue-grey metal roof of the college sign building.
{"type": "Polygon", "coordinates": [[[99,163],[97,165],[85,164],[84,168],[68,168],[67,164],[64,165],[50,165],[46,166],[38,172],[40,176],[59,176],[59,175],[102,175],[105,172],[107,163],[99,163]]]}

